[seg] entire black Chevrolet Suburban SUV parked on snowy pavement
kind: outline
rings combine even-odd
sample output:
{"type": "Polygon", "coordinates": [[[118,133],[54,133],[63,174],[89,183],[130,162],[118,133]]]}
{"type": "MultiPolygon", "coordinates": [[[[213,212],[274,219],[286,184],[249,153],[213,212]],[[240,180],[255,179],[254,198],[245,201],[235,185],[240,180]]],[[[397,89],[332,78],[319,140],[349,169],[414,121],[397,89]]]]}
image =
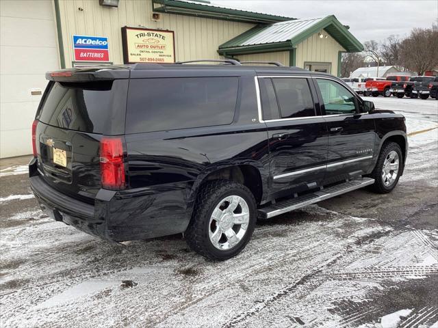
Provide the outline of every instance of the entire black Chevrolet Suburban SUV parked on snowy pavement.
{"type": "Polygon", "coordinates": [[[256,219],[394,189],[402,115],[330,74],[224,62],[47,73],[29,163],[42,210],[116,242],[183,232],[225,260],[256,219]]]}

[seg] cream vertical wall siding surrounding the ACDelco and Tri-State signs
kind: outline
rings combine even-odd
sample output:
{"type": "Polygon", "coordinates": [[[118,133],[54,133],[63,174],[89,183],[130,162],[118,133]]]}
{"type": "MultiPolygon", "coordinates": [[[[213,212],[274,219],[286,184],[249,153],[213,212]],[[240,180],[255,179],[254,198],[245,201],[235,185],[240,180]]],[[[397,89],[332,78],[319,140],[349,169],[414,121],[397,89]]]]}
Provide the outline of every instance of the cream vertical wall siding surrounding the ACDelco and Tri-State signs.
{"type": "Polygon", "coordinates": [[[60,0],[60,16],[66,66],[73,61],[73,34],[107,36],[110,61],[123,63],[121,27],[145,27],[175,31],[177,61],[220,59],[218,46],[247,31],[253,24],[175,14],[152,18],[151,0],[120,0],[118,8],[105,8],[98,0],[60,0]],[[83,11],[78,8],[83,8],[83,11]]]}

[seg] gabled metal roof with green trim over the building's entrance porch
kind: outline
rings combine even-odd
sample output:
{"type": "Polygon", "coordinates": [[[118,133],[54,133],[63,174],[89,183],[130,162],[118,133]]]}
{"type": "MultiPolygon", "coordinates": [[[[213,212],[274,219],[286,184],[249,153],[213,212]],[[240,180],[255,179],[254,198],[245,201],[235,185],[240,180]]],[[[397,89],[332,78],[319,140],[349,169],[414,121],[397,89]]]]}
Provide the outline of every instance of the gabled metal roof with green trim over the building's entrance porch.
{"type": "Polygon", "coordinates": [[[314,33],[325,29],[346,51],[363,51],[363,45],[333,15],[323,18],[288,20],[271,25],[258,25],[221,44],[218,52],[237,55],[251,52],[292,49],[314,33]]]}

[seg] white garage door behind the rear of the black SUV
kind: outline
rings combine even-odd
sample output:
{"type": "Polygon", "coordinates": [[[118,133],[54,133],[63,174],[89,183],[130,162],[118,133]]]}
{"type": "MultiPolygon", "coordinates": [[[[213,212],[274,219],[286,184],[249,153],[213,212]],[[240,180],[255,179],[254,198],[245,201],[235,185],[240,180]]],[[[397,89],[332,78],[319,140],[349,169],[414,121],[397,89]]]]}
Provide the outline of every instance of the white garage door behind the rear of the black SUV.
{"type": "Polygon", "coordinates": [[[51,0],[0,1],[0,158],[31,154],[31,124],[59,68],[51,0]]]}

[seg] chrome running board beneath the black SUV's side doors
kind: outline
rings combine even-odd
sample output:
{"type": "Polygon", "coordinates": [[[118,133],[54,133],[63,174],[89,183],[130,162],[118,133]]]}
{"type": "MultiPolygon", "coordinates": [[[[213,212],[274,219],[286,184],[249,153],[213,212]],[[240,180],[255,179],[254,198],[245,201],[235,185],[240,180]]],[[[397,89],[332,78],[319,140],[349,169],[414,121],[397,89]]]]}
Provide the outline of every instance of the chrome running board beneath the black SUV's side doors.
{"type": "Polygon", "coordinates": [[[276,204],[259,208],[258,214],[261,219],[269,219],[270,217],[275,217],[276,215],[281,215],[290,212],[291,210],[296,210],[297,208],[315,204],[322,200],[328,200],[331,197],[342,195],[343,193],[348,193],[349,191],[360,189],[373,183],[374,179],[372,178],[350,180],[320,191],[315,191],[314,193],[308,193],[306,195],[294,197],[290,200],[283,200],[276,204]]]}

